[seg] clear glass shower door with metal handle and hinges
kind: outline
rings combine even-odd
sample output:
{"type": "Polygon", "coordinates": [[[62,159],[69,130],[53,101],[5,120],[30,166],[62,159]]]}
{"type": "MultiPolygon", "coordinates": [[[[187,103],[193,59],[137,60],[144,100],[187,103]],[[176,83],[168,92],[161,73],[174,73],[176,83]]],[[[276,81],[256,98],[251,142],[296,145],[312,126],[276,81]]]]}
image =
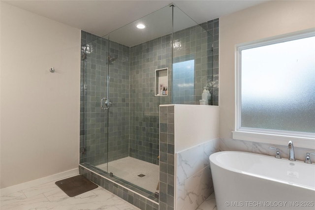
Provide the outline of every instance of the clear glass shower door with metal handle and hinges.
{"type": "Polygon", "coordinates": [[[93,40],[82,46],[80,163],[107,171],[108,162],[108,37],[82,31],[93,40]]]}

